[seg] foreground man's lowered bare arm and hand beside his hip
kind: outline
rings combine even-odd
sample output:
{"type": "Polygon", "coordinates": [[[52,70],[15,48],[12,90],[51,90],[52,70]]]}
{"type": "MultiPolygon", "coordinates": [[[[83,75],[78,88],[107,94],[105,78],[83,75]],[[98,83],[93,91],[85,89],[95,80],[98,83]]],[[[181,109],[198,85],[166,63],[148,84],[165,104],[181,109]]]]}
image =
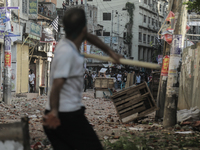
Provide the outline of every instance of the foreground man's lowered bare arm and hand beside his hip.
{"type": "Polygon", "coordinates": [[[57,128],[60,125],[60,120],[58,119],[58,109],[60,100],[60,91],[66,79],[54,79],[53,85],[50,92],[50,109],[51,111],[44,116],[44,126],[49,128],[57,128]]]}

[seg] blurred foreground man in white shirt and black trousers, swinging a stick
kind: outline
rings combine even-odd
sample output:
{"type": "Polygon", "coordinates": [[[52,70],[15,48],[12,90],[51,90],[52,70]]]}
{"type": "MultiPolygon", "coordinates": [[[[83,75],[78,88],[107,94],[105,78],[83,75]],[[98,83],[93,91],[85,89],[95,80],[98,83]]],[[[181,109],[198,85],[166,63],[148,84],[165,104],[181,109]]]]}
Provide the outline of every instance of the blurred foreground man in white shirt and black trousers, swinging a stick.
{"type": "Polygon", "coordinates": [[[103,150],[97,135],[84,115],[82,87],[84,57],[79,49],[87,39],[110,55],[115,54],[95,35],[87,33],[83,9],[72,8],[63,17],[66,38],[56,46],[51,66],[51,91],[44,116],[44,131],[54,150],[103,150]]]}

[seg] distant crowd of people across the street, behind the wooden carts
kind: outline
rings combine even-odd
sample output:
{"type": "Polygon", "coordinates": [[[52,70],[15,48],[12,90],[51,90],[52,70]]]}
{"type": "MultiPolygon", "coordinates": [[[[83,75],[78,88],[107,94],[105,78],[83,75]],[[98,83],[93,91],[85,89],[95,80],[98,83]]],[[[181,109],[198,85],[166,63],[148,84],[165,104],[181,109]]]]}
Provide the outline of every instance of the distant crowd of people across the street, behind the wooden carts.
{"type": "Polygon", "coordinates": [[[123,89],[125,88],[127,75],[128,73],[134,73],[133,76],[133,84],[139,85],[143,82],[146,82],[149,86],[149,83],[152,81],[152,73],[144,73],[139,71],[116,71],[110,72],[106,71],[101,73],[100,71],[97,73],[96,71],[85,71],[84,74],[84,92],[86,89],[93,89],[94,88],[94,81],[96,77],[101,78],[113,78],[114,79],[114,89],[123,89]]]}

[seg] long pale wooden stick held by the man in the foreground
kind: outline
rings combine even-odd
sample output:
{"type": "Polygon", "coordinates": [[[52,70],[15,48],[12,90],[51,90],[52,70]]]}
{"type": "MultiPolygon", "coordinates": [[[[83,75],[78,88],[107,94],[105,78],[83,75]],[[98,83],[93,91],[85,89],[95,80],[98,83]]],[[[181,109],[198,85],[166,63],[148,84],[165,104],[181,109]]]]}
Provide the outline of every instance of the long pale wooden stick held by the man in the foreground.
{"type": "MultiPolygon", "coordinates": [[[[83,54],[86,58],[93,58],[93,59],[98,59],[102,61],[110,61],[115,63],[115,61],[111,57],[107,56],[99,56],[99,55],[94,55],[94,54],[83,54]]],[[[151,68],[151,69],[158,69],[160,70],[161,67],[158,64],[155,63],[148,63],[148,62],[142,62],[142,61],[136,61],[136,60],[130,60],[130,59],[120,59],[120,63],[123,65],[130,65],[130,66],[137,66],[137,67],[144,67],[144,68],[151,68]]]]}

